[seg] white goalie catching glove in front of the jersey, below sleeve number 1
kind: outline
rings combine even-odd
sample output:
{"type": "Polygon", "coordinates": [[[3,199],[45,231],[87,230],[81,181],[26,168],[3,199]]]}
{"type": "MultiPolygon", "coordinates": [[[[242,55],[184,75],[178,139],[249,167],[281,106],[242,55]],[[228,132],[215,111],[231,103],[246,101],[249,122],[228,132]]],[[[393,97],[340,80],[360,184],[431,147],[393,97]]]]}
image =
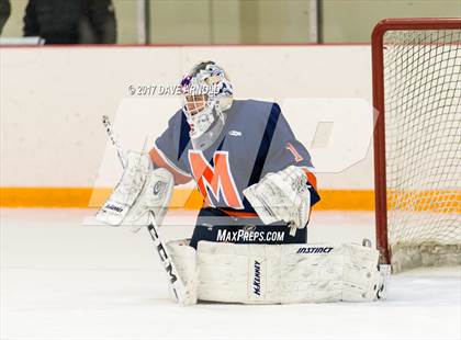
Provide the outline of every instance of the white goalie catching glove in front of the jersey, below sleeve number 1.
{"type": "Polygon", "coordinates": [[[305,172],[295,166],[268,173],[259,182],[244,190],[248,202],[265,224],[283,220],[290,224],[293,235],[308,222],[311,185],[305,172]]]}

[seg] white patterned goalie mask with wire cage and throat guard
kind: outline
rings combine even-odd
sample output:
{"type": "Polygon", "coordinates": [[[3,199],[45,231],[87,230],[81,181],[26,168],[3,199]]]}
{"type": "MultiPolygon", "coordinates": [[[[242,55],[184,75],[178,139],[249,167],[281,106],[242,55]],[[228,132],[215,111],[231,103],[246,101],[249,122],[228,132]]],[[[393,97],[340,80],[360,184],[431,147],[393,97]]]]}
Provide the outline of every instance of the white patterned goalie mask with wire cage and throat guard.
{"type": "Polygon", "coordinates": [[[223,68],[200,63],[181,81],[182,111],[194,149],[207,149],[220,136],[232,105],[233,89],[223,68]]]}

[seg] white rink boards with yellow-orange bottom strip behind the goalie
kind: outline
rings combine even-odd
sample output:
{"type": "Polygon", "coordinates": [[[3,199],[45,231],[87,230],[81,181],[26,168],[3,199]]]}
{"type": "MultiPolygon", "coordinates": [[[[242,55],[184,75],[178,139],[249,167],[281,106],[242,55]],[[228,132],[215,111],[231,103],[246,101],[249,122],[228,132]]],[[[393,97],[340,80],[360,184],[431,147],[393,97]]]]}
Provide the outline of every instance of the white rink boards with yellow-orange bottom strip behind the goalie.
{"type": "MultiPolygon", "coordinates": [[[[125,148],[148,148],[180,105],[164,92],[203,59],[237,99],[281,104],[318,170],[319,208],[373,208],[368,45],[1,48],[1,205],[100,204],[122,171],[101,116],[125,148]]],[[[178,206],[196,207],[190,189],[178,206]]]]}

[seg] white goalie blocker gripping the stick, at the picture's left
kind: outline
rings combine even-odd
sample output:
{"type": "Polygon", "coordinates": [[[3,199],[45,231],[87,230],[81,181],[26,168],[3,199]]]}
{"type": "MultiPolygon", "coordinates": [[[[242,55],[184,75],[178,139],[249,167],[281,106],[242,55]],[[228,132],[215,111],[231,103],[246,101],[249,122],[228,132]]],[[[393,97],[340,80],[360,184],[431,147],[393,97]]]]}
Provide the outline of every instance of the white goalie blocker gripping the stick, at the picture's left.
{"type": "Polygon", "coordinates": [[[122,179],[95,218],[112,226],[140,228],[149,224],[153,212],[157,225],[161,225],[173,185],[172,174],[162,168],[154,170],[148,155],[128,151],[122,179]]]}

